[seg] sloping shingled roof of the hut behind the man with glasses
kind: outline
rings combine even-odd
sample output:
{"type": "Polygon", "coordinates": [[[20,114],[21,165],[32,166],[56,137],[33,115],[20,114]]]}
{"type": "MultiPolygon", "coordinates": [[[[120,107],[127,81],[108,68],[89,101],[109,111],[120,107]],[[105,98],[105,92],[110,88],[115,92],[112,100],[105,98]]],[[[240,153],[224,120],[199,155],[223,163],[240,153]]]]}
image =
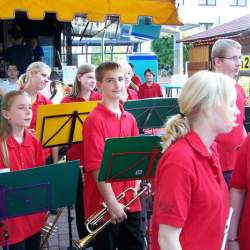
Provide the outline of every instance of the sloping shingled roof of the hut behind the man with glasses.
{"type": "Polygon", "coordinates": [[[241,33],[250,31],[250,14],[234,19],[230,22],[200,32],[193,36],[182,39],[183,43],[197,43],[216,40],[217,38],[233,38],[241,33]]]}

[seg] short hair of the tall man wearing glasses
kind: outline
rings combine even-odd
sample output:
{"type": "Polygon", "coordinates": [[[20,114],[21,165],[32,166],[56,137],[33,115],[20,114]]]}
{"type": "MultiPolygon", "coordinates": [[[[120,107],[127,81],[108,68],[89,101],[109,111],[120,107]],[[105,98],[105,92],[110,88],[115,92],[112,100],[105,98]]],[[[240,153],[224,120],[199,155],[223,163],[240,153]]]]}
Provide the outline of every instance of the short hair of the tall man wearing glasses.
{"type": "Polygon", "coordinates": [[[227,51],[231,48],[237,48],[241,50],[241,44],[233,39],[218,39],[211,51],[211,58],[214,65],[214,58],[223,58],[227,56],[227,51]]]}

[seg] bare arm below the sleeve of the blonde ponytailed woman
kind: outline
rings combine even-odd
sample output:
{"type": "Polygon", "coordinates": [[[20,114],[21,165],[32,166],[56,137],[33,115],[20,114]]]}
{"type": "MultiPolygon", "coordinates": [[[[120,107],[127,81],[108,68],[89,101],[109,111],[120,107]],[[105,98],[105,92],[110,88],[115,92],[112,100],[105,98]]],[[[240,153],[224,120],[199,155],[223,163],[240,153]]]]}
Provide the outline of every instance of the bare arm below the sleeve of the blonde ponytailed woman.
{"type": "Polygon", "coordinates": [[[158,243],[161,250],[181,250],[180,244],[181,228],[165,224],[159,225],[158,243]]]}

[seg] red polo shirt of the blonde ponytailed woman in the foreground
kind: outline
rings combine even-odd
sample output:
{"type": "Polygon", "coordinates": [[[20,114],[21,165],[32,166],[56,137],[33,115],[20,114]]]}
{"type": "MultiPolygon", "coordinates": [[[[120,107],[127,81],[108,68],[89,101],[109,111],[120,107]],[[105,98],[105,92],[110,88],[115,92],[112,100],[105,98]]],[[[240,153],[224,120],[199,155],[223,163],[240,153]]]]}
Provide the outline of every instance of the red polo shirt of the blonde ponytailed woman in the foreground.
{"type": "Polygon", "coordinates": [[[228,215],[227,186],[215,145],[210,155],[190,131],[167,149],[157,167],[153,210],[153,250],[159,224],[182,228],[183,250],[220,250],[228,215]]]}

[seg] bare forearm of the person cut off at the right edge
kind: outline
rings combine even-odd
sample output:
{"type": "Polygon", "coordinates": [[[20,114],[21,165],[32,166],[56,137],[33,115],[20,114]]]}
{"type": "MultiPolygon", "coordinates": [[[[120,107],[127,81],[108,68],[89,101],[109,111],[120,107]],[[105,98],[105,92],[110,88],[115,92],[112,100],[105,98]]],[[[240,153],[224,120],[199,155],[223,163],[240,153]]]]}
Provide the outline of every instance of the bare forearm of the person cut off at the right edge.
{"type": "Polygon", "coordinates": [[[245,202],[245,195],[246,195],[245,190],[240,190],[236,188],[231,188],[230,190],[230,207],[234,209],[228,234],[230,249],[239,249],[238,228],[239,228],[239,221],[241,218],[242,208],[245,202]]]}

